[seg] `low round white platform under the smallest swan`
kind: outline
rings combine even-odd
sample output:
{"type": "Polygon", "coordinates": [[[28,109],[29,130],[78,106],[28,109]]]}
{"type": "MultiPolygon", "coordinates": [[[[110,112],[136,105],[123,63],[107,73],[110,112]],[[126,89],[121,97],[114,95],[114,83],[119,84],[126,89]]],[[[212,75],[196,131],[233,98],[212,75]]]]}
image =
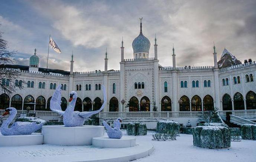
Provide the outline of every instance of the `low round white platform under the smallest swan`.
{"type": "Polygon", "coordinates": [[[123,136],[121,139],[104,137],[94,137],[93,145],[100,148],[125,148],[136,145],[136,138],[123,136]]]}

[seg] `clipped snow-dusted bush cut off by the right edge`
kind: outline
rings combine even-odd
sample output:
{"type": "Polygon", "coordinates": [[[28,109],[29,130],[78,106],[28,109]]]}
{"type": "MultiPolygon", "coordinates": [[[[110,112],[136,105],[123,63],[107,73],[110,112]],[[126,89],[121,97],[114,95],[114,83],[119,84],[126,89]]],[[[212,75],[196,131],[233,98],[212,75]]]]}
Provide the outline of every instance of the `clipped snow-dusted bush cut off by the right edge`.
{"type": "Polygon", "coordinates": [[[242,139],[256,139],[256,125],[244,124],[241,126],[242,139]]]}

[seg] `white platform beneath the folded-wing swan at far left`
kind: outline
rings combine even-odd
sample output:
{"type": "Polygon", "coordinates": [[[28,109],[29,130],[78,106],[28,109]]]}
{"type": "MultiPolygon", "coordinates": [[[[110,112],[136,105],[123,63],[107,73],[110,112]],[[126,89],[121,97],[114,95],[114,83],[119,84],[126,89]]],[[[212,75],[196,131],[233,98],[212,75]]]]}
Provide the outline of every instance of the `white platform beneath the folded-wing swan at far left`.
{"type": "Polygon", "coordinates": [[[25,146],[25,145],[42,145],[43,135],[32,133],[30,135],[0,135],[0,146],[25,146]]]}

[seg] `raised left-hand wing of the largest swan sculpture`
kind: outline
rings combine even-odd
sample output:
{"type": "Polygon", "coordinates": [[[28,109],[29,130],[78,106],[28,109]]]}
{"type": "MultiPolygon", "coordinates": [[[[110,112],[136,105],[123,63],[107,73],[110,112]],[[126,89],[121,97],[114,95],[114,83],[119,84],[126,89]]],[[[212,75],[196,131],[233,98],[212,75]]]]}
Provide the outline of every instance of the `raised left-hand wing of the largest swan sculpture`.
{"type": "Polygon", "coordinates": [[[54,112],[58,112],[59,114],[64,115],[65,111],[62,111],[61,109],[61,84],[58,85],[56,91],[52,95],[50,109],[54,112]]]}

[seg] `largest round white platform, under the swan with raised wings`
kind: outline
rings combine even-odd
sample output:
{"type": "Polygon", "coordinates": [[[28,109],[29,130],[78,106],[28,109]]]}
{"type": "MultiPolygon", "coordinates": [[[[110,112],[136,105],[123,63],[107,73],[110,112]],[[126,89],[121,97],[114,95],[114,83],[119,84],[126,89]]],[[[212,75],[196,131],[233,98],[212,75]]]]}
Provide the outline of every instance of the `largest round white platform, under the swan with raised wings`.
{"type": "Polygon", "coordinates": [[[78,146],[91,145],[94,137],[104,135],[104,126],[83,125],[65,127],[64,125],[42,126],[43,144],[78,146]]]}

